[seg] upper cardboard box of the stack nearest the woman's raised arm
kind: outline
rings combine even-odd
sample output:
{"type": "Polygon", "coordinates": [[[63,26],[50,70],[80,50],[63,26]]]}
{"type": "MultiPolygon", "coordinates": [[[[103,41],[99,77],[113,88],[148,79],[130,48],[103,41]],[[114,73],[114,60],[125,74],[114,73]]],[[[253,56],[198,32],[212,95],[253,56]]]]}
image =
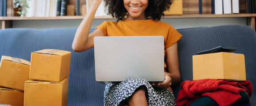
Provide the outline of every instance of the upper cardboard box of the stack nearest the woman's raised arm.
{"type": "Polygon", "coordinates": [[[71,52],[43,49],[31,53],[29,79],[59,82],[69,76],[71,52]]]}

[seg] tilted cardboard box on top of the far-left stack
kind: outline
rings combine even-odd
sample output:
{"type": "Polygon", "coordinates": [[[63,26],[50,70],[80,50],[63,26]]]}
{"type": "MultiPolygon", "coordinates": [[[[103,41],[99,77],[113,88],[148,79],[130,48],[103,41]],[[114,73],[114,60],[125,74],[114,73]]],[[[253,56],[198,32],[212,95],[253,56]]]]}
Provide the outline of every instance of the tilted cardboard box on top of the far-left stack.
{"type": "Polygon", "coordinates": [[[24,83],[28,80],[29,68],[29,61],[2,56],[0,62],[0,86],[24,91],[24,83]]]}

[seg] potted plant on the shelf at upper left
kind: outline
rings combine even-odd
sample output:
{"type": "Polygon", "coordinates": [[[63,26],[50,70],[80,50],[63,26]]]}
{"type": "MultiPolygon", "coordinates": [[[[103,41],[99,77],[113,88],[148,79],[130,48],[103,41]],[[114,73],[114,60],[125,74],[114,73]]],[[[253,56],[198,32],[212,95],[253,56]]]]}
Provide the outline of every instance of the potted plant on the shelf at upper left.
{"type": "Polygon", "coordinates": [[[13,3],[15,4],[13,7],[14,10],[14,16],[20,16],[21,18],[26,14],[28,3],[26,0],[13,0],[13,3]]]}

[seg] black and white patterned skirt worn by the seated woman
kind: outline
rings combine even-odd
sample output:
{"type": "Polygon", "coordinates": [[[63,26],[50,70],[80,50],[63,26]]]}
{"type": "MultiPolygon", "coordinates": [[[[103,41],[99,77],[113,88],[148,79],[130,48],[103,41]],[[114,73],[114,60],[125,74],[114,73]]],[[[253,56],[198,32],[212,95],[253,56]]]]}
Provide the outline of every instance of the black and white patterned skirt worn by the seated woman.
{"type": "Polygon", "coordinates": [[[107,84],[104,91],[104,105],[119,106],[140,87],[146,89],[149,106],[176,106],[175,97],[169,88],[152,87],[145,79],[127,79],[121,83],[107,84]]]}

